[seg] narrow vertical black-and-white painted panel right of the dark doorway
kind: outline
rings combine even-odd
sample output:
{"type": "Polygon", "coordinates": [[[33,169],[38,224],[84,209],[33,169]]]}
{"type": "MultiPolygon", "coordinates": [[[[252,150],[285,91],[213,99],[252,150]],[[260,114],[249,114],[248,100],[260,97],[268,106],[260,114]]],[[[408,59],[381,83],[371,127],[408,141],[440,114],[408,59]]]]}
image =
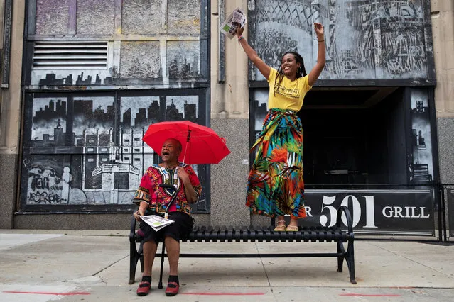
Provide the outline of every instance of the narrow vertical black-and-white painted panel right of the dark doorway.
{"type": "Polygon", "coordinates": [[[411,162],[410,181],[433,181],[433,155],[429,94],[425,88],[411,88],[411,162]]]}

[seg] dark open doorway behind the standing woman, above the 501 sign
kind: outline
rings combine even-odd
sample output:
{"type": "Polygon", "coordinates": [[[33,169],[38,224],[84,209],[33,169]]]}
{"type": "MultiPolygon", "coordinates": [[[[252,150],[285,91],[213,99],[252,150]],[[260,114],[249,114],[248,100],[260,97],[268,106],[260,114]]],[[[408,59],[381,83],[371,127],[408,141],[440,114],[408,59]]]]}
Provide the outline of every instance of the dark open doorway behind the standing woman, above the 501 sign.
{"type": "Polygon", "coordinates": [[[307,186],[406,184],[404,89],[310,91],[298,113],[307,186]]]}

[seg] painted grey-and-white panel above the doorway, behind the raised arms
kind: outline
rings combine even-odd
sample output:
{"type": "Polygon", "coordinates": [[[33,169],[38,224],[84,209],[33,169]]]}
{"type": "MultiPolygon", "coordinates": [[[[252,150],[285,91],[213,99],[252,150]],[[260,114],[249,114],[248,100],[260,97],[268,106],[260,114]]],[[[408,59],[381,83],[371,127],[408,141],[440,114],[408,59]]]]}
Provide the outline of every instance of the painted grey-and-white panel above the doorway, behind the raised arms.
{"type": "MultiPolygon", "coordinates": [[[[327,64],[320,79],[409,79],[428,77],[425,0],[253,0],[249,1],[254,47],[279,67],[295,51],[306,71],[315,64],[313,23],[323,23],[327,64]]],[[[252,80],[263,76],[254,68],[252,80]]]]}

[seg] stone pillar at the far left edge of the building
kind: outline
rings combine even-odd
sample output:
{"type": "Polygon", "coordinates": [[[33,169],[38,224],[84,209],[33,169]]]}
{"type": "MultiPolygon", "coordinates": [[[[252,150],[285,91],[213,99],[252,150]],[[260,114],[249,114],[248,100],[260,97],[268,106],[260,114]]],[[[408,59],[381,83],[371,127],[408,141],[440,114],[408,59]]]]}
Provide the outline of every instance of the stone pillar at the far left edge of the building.
{"type": "Polygon", "coordinates": [[[16,204],[21,121],[22,38],[25,1],[13,2],[9,86],[1,89],[0,113],[0,228],[13,228],[16,204]]]}

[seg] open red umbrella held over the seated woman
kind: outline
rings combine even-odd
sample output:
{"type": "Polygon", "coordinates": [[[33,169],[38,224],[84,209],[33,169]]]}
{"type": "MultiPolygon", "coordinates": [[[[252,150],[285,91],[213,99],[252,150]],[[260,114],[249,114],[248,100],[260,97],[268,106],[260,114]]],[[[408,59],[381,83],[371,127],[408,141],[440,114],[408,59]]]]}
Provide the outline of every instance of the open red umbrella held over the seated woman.
{"type": "Polygon", "coordinates": [[[143,140],[161,155],[163,143],[169,138],[181,142],[183,150],[178,160],[186,164],[217,164],[230,153],[225,139],[215,130],[190,121],[151,124],[143,140]]]}

